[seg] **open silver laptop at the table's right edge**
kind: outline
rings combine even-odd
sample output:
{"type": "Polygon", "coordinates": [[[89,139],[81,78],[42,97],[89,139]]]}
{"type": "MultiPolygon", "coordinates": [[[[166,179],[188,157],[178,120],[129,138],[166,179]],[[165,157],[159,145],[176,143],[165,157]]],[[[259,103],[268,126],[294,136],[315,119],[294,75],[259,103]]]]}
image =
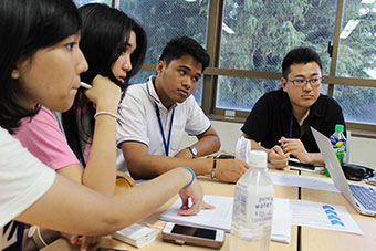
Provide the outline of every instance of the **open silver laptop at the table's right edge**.
{"type": "Polygon", "coordinates": [[[376,187],[348,184],[333,150],[331,140],[313,127],[311,129],[334,186],[359,213],[376,217],[376,187]]]}

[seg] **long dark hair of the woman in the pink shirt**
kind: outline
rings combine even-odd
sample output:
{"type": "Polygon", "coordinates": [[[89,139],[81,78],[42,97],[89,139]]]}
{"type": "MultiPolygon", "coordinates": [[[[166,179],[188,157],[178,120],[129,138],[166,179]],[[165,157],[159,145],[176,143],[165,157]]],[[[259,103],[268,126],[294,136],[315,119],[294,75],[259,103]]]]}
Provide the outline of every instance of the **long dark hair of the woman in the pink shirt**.
{"type": "MultiPolygon", "coordinates": [[[[80,48],[88,63],[88,71],[81,74],[81,80],[91,83],[97,74],[108,76],[125,93],[129,79],[139,71],[145,59],[147,40],[144,29],[124,12],[105,4],[90,3],[79,10],[83,22],[80,48]],[[126,50],[130,31],[136,33],[137,48],[130,56],[132,71],[127,72],[125,82],[121,83],[114,76],[112,66],[126,50]]],[[[87,143],[93,136],[94,114],[93,104],[83,94],[83,90],[79,90],[72,108],[62,114],[67,143],[84,166],[82,142],[87,143]],[[81,116],[83,113],[88,114],[88,126],[84,124],[84,116],[81,116]]]]}

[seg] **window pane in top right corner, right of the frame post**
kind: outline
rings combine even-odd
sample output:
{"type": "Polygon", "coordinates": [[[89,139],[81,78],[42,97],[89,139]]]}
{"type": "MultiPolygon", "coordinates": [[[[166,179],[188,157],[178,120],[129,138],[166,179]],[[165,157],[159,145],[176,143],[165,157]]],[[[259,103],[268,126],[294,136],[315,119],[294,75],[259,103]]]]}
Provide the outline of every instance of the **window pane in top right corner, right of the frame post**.
{"type": "Polygon", "coordinates": [[[346,1],[337,76],[376,79],[376,3],[366,2],[372,1],[346,1]]]}

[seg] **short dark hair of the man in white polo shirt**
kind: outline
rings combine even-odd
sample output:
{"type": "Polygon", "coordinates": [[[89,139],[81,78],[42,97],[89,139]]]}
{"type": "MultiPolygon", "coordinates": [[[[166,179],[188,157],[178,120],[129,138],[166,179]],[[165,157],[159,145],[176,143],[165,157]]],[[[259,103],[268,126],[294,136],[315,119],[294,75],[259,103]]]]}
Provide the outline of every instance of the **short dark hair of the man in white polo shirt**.
{"type": "Polygon", "coordinates": [[[188,36],[175,38],[165,46],[159,61],[164,60],[168,65],[173,60],[190,55],[202,64],[202,72],[209,65],[210,56],[208,52],[194,39],[188,36]]]}

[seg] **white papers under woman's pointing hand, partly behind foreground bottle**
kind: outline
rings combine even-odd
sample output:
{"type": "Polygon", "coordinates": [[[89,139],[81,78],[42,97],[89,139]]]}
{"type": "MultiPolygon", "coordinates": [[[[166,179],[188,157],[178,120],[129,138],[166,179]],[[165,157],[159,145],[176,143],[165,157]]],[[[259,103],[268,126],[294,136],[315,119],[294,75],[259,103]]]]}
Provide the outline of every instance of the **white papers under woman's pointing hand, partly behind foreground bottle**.
{"type": "MultiPolygon", "coordinates": [[[[178,199],[169,209],[159,216],[159,219],[197,227],[222,229],[230,232],[233,198],[206,195],[203,199],[206,202],[216,206],[216,209],[201,209],[196,216],[179,216],[178,211],[181,201],[178,199]]],[[[292,213],[289,200],[274,198],[271,240],[289,243],[291,238],[291,222],[292,213]]]]}

